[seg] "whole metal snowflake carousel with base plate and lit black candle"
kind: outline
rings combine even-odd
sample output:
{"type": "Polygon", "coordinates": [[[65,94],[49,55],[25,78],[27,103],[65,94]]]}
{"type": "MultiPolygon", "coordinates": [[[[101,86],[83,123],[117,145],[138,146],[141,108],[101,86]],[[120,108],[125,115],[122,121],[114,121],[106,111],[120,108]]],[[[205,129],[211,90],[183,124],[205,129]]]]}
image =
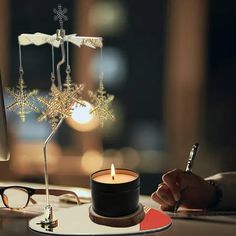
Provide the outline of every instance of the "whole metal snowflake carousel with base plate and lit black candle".
{"type": "MultiPolygon", "coordinates": [[[[112,234],[147,234],[168,228],[171,219],[164,213],[144,207],[139,202],[140,176],[128,169],[98,170],[91,175],[92,204],[78,205],[60,209],[54,217],[49,199],[49,183],[47,170],[47,144],[57,132],[62,122],[72,115],[76,106],[84,106],[82,98],[84,85],[73,83],[69,64],[69,44],[78,47],[87,46],[99,48],[102,55],[102,38],[83,37],[76,34],[66,35],[63,21],[67,20],[67,10],[58,5],[54,19],[59,21],[60,28],[53,35],[43,33],[21,34],[19,42],[19,81],[15,89],[8,89],[13,102],[7,106],[15,111],[24,122],[30,112],[39,112],[39,121],[47,120],[51,125],[51,133],[43,145],[44,175],[46,206],[44,215],[29,221],[29,227],[37,232],[57,235],[112,235],[112,234]],[[40,46],[49,44],[52,54],[51,88],[46,97],[38,96],[38,91],[27,91],[23,79],[22,46],[40,46]],[[61,49],[61,61],[54,72],[54,49],[61,49]],[[66,78],[62,82],[61,65],[66,62],[66,78]],[[35,101],[41,104],[38,108],[35,101]],[[155,220],[156,219],[156,220],[155,220]],[[161,220],[160,220],[161,219],[161,220]]],[[[104,121],[114,120],[110,109],[113,95],[107,94],[103,85],[103,73],[100,73],[98,90],[88,91],[89,103],[92,105],[91,113],[96,115],[103,126],[104,121]]]]}

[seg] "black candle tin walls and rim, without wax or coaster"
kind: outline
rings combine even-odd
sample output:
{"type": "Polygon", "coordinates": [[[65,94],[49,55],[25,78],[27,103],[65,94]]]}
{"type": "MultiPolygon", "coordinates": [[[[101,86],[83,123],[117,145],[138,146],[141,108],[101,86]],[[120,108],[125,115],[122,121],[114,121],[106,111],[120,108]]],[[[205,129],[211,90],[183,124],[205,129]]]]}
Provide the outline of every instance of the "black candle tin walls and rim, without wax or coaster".
{"type": "Polygon", "coordinates": [[[134,213],[139,208],[140,177],[128,169],[116,169],[116,174],[135,177],[126,183],[101,183],[95,177],[110,173],[110,169],[100,170],[91,175],[90,187],[94,212],[106,217],[122,217],[134,213]]]}

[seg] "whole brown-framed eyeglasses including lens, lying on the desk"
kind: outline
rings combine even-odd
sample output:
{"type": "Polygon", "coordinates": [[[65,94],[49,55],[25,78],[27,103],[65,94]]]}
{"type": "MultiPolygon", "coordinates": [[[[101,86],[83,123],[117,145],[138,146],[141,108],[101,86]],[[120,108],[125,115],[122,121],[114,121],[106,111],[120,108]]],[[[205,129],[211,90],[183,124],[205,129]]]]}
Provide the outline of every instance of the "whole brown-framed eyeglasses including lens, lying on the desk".
{"type": "MultiPolygon", "coordinates": [[[[34,194],[45,194],[45,189],[33,189],[22,186],[8,186],[0,187],[0,194],[3,204],[10,209],[22,209],[28,206],[29,202],[35,204],[36,201],[32,198],[34,194]]],[[[72,194],[77,200],[77,204],[80,204],[78,195],[69,190],[62,189],[49,189],[49,194],[54,196],[61,196],[64,194],[72,194]]]]}

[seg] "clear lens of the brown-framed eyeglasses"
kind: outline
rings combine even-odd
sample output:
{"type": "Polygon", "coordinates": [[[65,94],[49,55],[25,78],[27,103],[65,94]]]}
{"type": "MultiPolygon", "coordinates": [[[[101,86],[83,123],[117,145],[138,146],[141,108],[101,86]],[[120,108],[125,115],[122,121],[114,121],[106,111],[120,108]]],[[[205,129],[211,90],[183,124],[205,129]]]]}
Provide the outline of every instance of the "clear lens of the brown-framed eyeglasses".
{"type": "MultiPolygon", "coordinates": [[[[4,195],[7,198],[5,204],[10,208],[24,208],[28,201],[28,192],[23,188],[7,188],[4,195]]],[[[6,198],[4,197],[4,200],[6,198]]]]}

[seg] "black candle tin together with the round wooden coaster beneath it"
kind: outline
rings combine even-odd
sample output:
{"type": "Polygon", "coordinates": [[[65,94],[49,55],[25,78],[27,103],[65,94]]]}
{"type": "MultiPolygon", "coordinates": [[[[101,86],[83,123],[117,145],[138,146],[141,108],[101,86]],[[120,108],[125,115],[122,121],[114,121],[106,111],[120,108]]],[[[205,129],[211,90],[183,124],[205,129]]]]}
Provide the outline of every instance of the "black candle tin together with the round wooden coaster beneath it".
{"type": "Polygon", "coordinates": [[[90,219],[102,225],[128,227],[144,218],[143,206],[139,203],[140,177],[128,169],[100,170],[90,178],[92,205],[90,219]]]}

